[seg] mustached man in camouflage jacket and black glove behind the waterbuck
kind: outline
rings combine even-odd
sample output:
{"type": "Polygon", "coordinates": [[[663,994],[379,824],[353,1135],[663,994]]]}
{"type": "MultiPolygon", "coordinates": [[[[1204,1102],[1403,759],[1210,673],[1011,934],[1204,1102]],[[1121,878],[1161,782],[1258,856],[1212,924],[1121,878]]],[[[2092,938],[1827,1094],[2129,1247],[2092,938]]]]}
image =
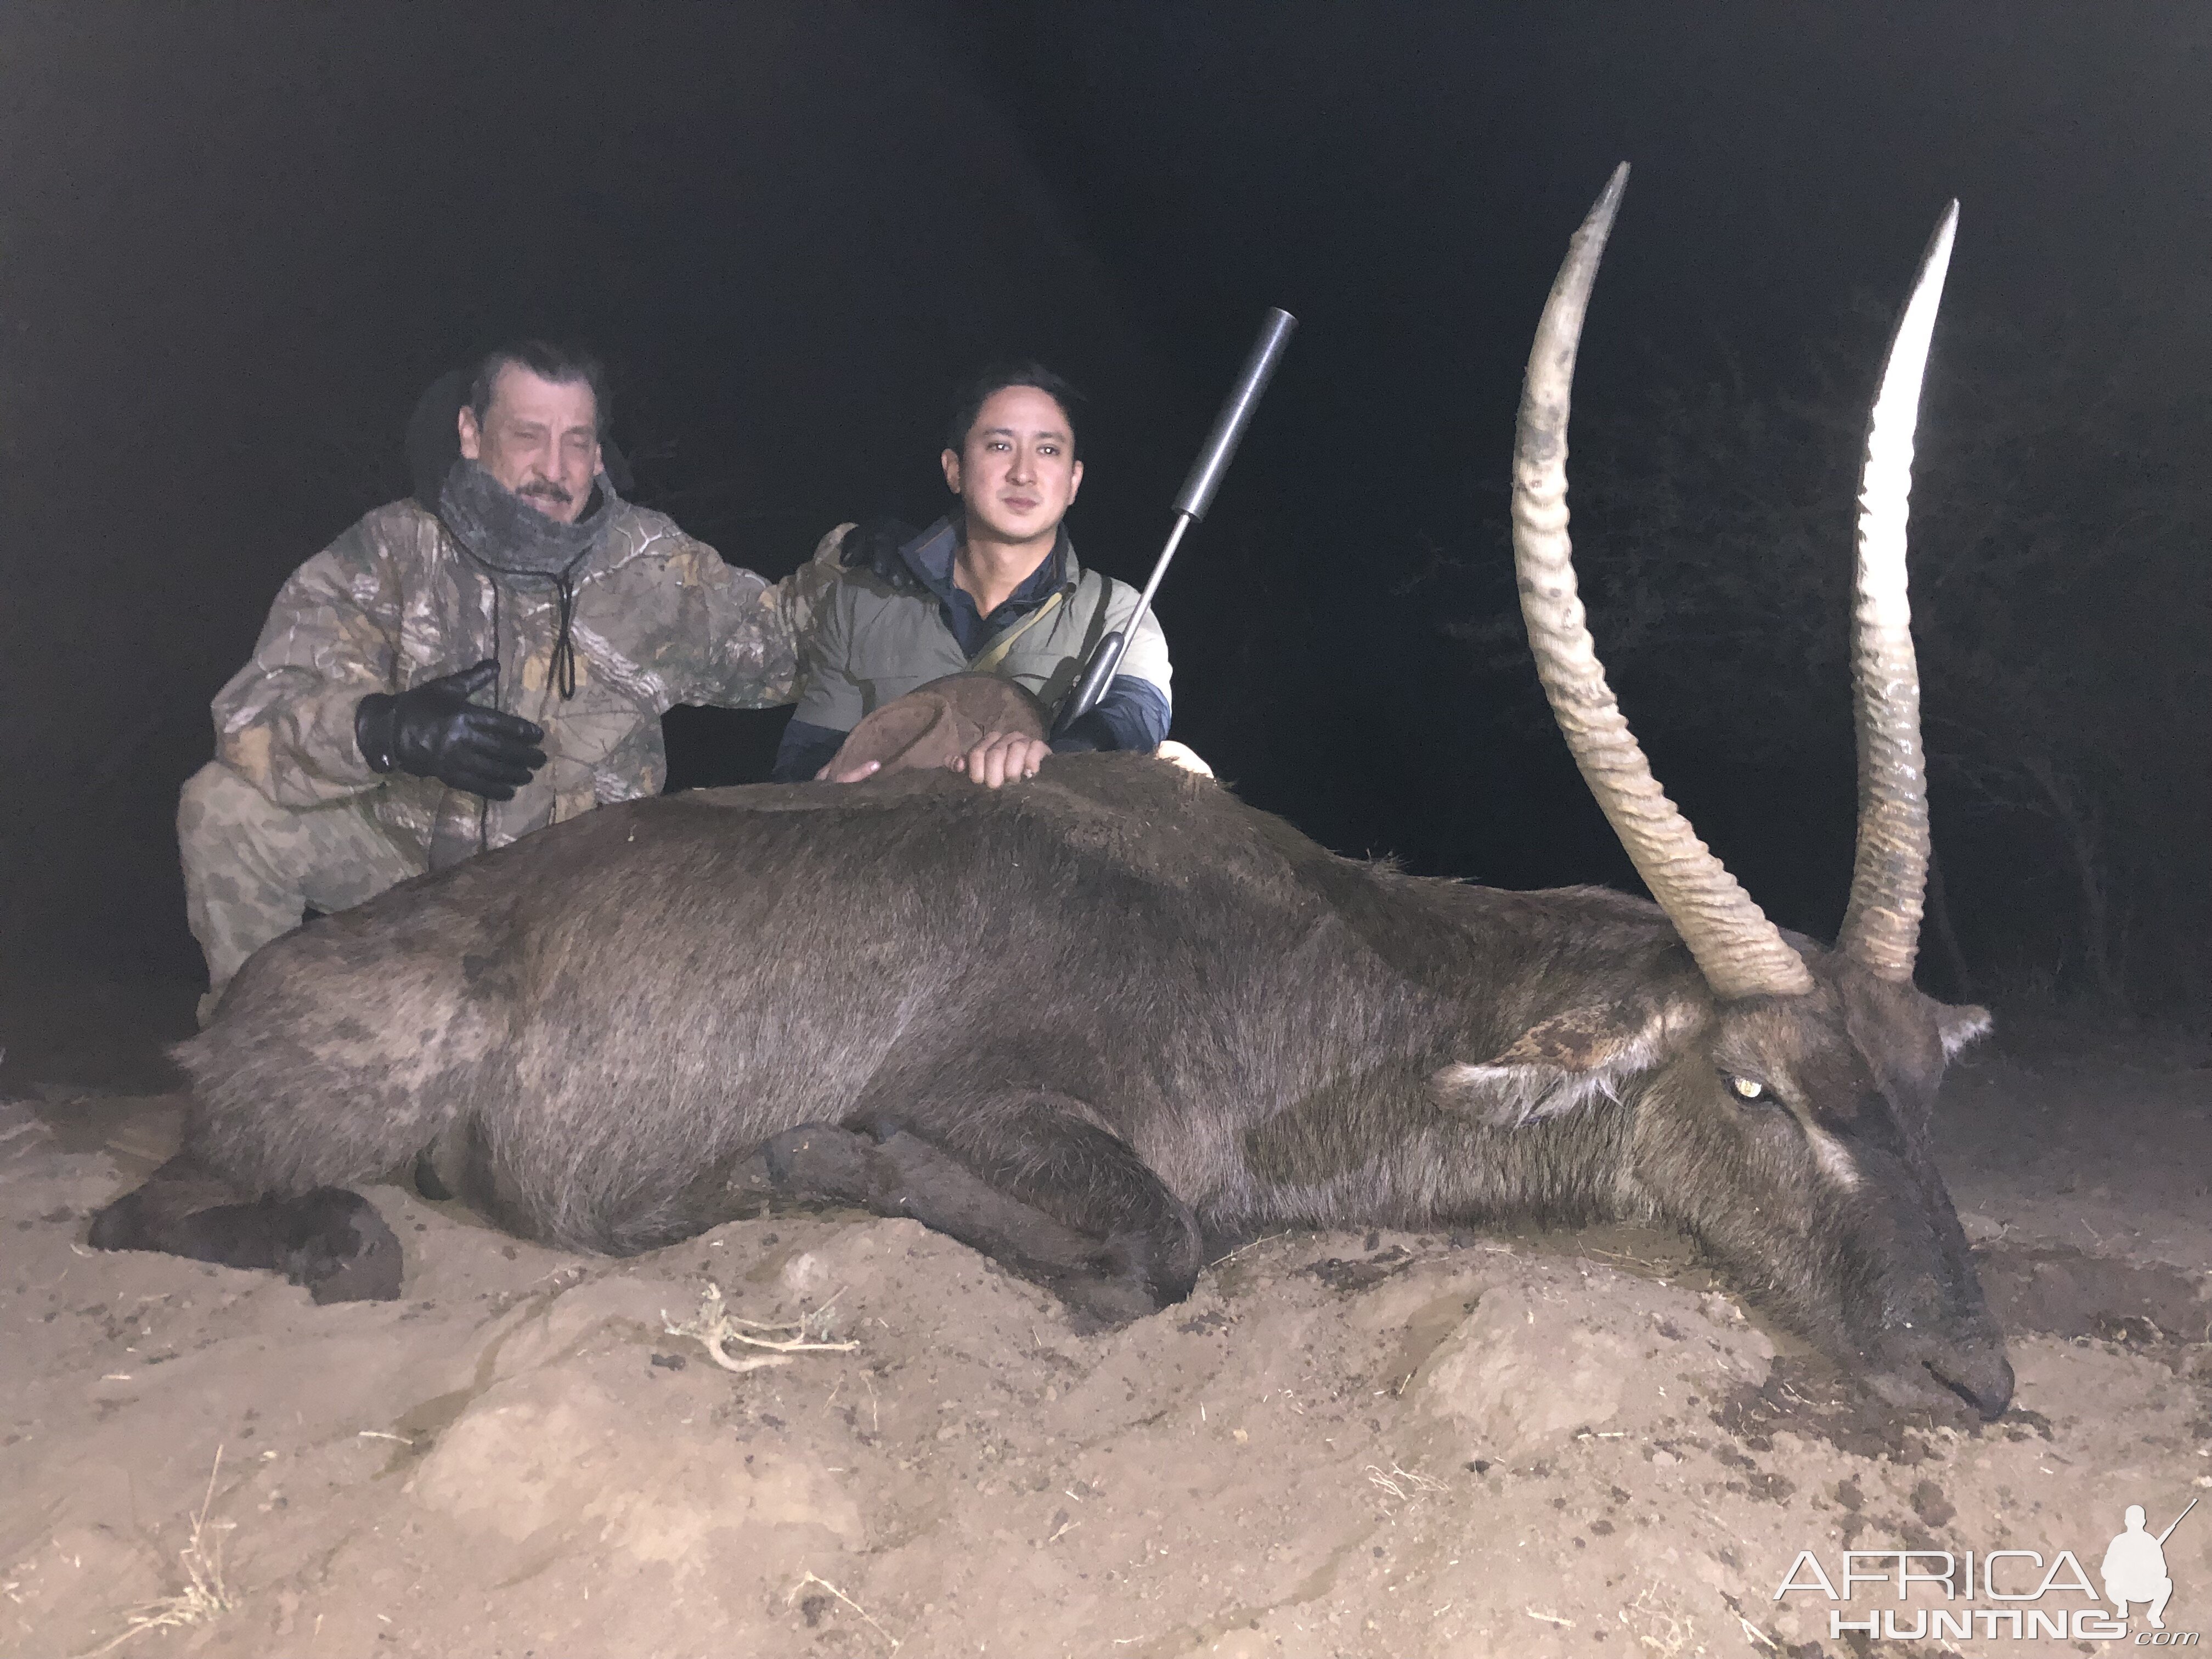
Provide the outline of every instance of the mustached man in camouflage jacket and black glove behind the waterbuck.
{"type": "MultiPolygon", "coordinates": [[[[177,812],[212,1015],[239,964],[425,869],[655,794],[675,703],[796,695],[823,560],[770,586],[602,471],[588,356],[478,367],[442,489],[378,507],[276,595],[177,812]]],[[[834,551],[827,555],[834,557],[834,551]]]]}

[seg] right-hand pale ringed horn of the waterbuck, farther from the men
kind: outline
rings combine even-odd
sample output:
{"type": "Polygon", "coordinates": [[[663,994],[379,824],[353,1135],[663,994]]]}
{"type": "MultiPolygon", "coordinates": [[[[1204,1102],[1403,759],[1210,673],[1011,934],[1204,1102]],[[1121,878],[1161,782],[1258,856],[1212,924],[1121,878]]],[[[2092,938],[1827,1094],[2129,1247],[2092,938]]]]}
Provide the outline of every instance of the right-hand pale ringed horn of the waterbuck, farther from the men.
{"type": "Polygon", "coordinates": [[[1929,363],[1955,230],[1958,201],[1944,208],[1929,237],[1913,292],[1898,314],[1882,389],[1867,420],[1867,469],[1858,487],[1858,591],[1851,608],[1858,854],[1836,949],[1898,984],[1913,978],[1920,898],[1929,878],[1929,792],[1920,752],[1913,608],[1905,595],[1905,513],[1913,489],[1920,376],[1929,363]]]}

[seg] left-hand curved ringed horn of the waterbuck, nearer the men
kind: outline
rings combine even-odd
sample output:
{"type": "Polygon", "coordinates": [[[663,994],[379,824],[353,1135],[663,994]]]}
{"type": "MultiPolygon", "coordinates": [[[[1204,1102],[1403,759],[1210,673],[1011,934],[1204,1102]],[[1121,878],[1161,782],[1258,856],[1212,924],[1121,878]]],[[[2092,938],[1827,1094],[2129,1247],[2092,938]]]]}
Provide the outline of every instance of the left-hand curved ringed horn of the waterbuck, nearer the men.
{"type": "Polygon", "coordinates": [[[1528,352],[1513,436],[1513,568],[1520,575],[1522,619],[1528,624],[1544,697],[1551,699],[1575,765],[1714,995],[1803,995],[1812,991],[1805,960],[1697,838],[1690,821],[1652,776],[1650,761],[1606,686],[1606,670],[1597,661],[1575,593],[1575,549],[1566,535],[1566,414],[1582,314],[1626,188],[1624,161],[1568,243],[1566,263],[1544,301],[1535,349],[1528,352]]]}

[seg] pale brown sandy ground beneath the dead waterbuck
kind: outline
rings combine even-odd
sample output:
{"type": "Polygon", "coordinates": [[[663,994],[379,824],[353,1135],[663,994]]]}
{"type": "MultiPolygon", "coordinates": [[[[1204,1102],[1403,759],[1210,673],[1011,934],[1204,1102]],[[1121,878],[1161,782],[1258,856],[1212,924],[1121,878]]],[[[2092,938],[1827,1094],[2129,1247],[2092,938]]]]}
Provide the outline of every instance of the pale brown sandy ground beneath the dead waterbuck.
{"type": "Polygon", "coordinates": [[[1929,1608],[2006,1617],[1871,1650],[2205,1632],[2203,1062],[2046,1033],[1953,1077],[1944,1168],[2020,1374],[1964,1429],[1869,1407],[1621,1230],[1265,1239],[1084,1334],[905,1221],[604,1261],[374,1188],[407,1296],[314,1307],[84,1250],[175,1102],[49,1086],[0,1104],[0,1652],[1809,1659],[1869,1650],[1832,1613],[1929,1608]],[[708,1285],[825,1347],[717,1367],[668,1332],[708,1285]],[[2077,1635],[2059,1553],[2095,1582],[2126,1504],[2159,1531],[2192,1495],[2166,1630],[2137,1604],[2077,1635]],[[1891,1559],[1829,1601],[1847,1548],[2037,1559],[1951,1601],[1900,1601],[1891,1559]]]}

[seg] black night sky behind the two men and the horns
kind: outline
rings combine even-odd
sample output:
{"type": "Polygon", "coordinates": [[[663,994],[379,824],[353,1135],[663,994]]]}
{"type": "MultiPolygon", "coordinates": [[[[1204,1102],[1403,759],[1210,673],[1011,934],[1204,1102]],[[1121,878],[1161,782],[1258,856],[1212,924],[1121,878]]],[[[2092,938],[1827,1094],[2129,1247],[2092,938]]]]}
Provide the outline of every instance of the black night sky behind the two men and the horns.
{"type": "MultiPolygon", "coordinates": [[[[403,493],[422,385],[524,332],[597,345],[637,493],[770,577],[933,515],[951,385],[1042,356],[1091,394],[1075,540],[1141,580],[1261,310],[1296,312],[1161,593],[1177,737],[1343,852],[1632,887],[1504,538],[1528,332],[1621,159],[1571,478],[1661,779],[1834,931],[1860,403],[1955,195],[1922,984],[2205,1018],[2201,4],[93,0],[0,13],[0,80],[4,1042],[64,993],[181,1035],[208,699],[403,493]]],[[[765,774],[779,721],[670,717],[672,783],[765,774]]]]}

